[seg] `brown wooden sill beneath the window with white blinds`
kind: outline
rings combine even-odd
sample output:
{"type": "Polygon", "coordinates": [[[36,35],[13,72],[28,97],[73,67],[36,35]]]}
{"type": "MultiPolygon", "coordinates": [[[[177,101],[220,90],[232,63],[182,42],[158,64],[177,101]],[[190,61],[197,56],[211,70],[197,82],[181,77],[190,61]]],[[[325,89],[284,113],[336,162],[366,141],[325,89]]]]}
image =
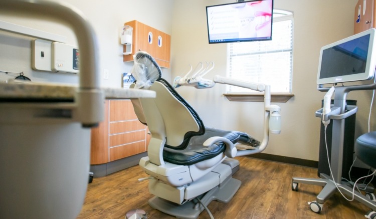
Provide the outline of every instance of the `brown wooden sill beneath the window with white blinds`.
{"type": "MultiPolygon", "coordinates": [[[[264,102],[264,94],[224,94],[230,101],[246,101],[246,102],[264,102]]],[[[294,94],[274,93],[271,95],[271,102],[286,103],[294,94]]]]}

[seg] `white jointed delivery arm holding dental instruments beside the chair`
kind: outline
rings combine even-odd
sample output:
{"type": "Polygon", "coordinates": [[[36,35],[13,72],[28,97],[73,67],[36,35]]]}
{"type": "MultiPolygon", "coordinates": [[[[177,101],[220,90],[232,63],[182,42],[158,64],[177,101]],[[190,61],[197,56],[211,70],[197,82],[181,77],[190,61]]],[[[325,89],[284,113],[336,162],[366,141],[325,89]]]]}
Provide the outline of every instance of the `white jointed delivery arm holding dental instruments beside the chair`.
{"type": "MultiPolygon", "coordinates": [[[[214,67],[214,64],[213,64],[214,67]]],[[[212,69],[212,68],[211,68],[212,69]]],[[[211,70],[210,69],[210,70],[211,70]]],[[[191,86],[197,89],[212,88],[216,83],[227,84],[238,86],[242,88],[248,88],[258,92],[264,92],[264,138],[259,146],[255,149],[249,150],[237,150],[235,145],[221,137],[211,137],[209,138],[204,145],[211,145],[215,142],[224,142],[226,144],[225,154],[228,157],[244,156],[255,153],[260,153],[265,150],[268,141],[269,141],[269,132],[273,134],[279,134],[281,132],[281,118],[280,110],[281,108],[278,105],[271,105],[271,94],[270,94],[270,85],[257,84],[251,82],[240,81],[236,79],[215,76],[213,80],[204,79],[203,76],[209,71],[202,72],[201,74],[196,74],[192,77],[188,77],[189,73],[184,77],[176,77],[173,82],[173,87],[177,88],[179,86],[191,86]]]]}

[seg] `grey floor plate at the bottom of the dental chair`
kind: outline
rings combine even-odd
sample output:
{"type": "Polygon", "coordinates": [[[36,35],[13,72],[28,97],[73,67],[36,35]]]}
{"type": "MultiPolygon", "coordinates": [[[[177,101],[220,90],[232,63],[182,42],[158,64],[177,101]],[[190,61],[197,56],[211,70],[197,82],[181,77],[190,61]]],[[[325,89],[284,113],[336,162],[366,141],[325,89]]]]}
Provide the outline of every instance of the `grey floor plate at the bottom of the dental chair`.
{"type": "MultiPolygon", "coordinates": [[[[198,198],[205,206],[208,206],[213,200],[228,203],[238,191],[241,184],[242,182],[240,180],[229,176],[223,183],[214,187],[198,198]]],[[[149,199],[148,203],[154,209],[181,219],[196,219],[205,209],[196,198],[179,205],[154,196],[149,199]]]]}

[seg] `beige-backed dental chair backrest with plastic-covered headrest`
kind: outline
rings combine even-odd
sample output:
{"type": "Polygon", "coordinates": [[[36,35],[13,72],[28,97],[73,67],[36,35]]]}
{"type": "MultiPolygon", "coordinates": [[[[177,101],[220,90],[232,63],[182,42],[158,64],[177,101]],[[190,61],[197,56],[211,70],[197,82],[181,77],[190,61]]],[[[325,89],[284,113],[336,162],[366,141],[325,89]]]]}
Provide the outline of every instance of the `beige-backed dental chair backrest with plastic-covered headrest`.
{"type": "Polygon", "coordinates": [[[182,150],[191,137],[204,134],[205,127],[196,111],[161,78],[161,70],[149,54],[137,52],[134,61],[132,74],[136,83],[130,88],[155,91],[156,98],[131,101],[138,119],[148,126],[151,133],[148,146],[150,161],[162,164],[163,147],[182,150]],[[154,156],[158,158],[152,161],[154,156]]]}

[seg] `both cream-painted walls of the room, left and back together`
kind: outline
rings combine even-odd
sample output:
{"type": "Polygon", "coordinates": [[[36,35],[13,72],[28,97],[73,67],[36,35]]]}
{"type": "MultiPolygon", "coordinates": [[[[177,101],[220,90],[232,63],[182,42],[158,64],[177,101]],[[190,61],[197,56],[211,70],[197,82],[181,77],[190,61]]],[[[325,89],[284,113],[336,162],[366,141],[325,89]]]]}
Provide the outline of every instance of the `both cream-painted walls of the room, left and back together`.
{"type": "MultiPolygon", "coordinates": [[[[171,35],[171,68],[163,69],[163,77],[171,81],[200,61],[214,61],[216,74],[225,76],[227,45],[209,45],[205,7],[235,2],[235,0],[66,0],[77,7],[94,27],[99,40],[99,68],[110,70],[109,80],[101,79],[104,87],[120,87],[121,73],[131,69],[123,63],[119,28],[128,21],[138,20],[171,35]],[[172,74],[172,77],[171,77],[172,74]]],[[[320,120],[314,112],[321,107],[324,94],[316,89],[319,50],[322,46],[352,35],[356,0],[275,0],[276,9],[294,13],[293,93],[287,103],[278,103],[282,114],[282,133],[271,135],[265,153],[318,159],[320,120]]],[[[76,45],[74,34],[66,27],[34,19],[22,19],[11,14],[0,20],[66,36],[76,45]]],[[[34,81],[77,83],[76,75],[31,70],[31,40],[0,31],[0,70],[21,72],[34,81]]],[[[14,76],[0,73],[0,81],[14,76]]],[[[222,94],[224,85],[208,90],[179,88],[209,127],[245,131],[262,139],[263,103],[229,102],[222,94]]],[[[366,131],[369,91],[350,93],[348,99],[358,101],[355,135],[366,131]]],[[[374,123],[371,123],[371,128],[374,123]]],[[[374,129],[374,128],[373,128],[374,129]]]]}

